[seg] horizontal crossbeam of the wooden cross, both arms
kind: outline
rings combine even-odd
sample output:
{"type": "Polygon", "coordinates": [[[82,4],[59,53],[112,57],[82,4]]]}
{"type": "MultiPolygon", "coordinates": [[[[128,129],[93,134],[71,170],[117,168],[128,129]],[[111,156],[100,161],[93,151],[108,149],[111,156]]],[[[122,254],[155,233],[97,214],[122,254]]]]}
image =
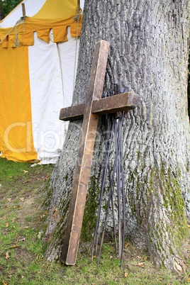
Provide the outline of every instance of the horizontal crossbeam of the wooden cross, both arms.
{"type": "MultiPolygon", "coordinates": [[[[138,95],[133,92],[117,94],[92,102],[91,113],[104,115],[106,113],[116,113],[128,111],[135,108],[138,104],[138,95]]],[[[78,104],[60,111],[60,120],[74,121],[83,118],[86,104],[78,104]]]]}

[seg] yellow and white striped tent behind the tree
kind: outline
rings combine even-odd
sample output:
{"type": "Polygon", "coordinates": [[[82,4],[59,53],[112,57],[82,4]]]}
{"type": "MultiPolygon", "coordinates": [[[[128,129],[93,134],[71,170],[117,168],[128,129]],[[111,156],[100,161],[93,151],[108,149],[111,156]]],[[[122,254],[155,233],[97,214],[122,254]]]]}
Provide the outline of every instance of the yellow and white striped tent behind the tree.
{"type": "Polygon", "coordinates": [[[55,163],[60,154],[59,113],[72,102],[78,12],[77,0],[24,0],[0,21],[0,152],[8,160],[55,163]]]}

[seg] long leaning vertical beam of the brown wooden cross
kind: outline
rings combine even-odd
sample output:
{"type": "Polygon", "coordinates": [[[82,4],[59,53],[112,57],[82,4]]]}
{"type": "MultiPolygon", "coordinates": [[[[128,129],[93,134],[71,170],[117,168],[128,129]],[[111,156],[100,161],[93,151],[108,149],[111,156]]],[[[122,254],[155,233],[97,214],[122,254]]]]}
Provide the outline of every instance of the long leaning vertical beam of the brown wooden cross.
{"type": "Polygon", "coordinates": [[[89,89],[86,96],[82,123],[82,135],[79,142],[78,160],[74,171],[67,228],[62,246],[61,260],[67,265],[74,265],[77,259],[96,128],[99,119],[99,114],[91,113],[91,109],[93,101],[101,99],[103,93],[108,49],[109,43],[105,40],[99,41],[94,49],[89,89]]]}

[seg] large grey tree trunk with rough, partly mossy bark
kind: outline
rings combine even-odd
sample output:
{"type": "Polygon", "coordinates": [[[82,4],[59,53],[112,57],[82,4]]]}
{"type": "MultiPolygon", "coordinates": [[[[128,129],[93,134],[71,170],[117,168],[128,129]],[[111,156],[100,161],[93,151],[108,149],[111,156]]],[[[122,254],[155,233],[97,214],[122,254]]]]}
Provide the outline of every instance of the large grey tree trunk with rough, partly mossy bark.
{"type": "MultiPolygon", "coordinates": [[[[85,101],[94,45],[108,40],[104,92],[118,83],[121,74],[122,85],[140,96],[138,108],[128,113],[123,126],[126,235],[147,249],[157,265],[174,270],[184,266],[180,245],[190,213],[188,4],[188,0],[86,0],[73,99],[74,104],[85,101]]],[[[50,261],[60,258],[81,125],[70,123],[47,189],[50,216],[45,237],[50,261]]],[[[94,233],[103,132],[100,120],[82,237],[94,233]]]]}

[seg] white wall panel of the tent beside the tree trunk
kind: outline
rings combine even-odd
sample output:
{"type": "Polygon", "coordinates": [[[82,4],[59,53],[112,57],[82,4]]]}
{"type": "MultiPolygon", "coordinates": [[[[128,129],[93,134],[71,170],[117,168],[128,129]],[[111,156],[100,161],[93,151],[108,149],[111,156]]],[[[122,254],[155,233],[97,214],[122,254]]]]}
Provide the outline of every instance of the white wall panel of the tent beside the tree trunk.
{"type": "Polygon", "coordinates": [[[62,106],[72,104],[74,63],[79,49],[77,43],[75,55],[76,38],[69,33],[67,38],[65,43],[53,43],[51,33],[47,44],[35,33],[35,45],[28,47],[33,142],[42,164],[57,161],[67,131],[67,123],[59,120],[59,114],[62,106]]]}

